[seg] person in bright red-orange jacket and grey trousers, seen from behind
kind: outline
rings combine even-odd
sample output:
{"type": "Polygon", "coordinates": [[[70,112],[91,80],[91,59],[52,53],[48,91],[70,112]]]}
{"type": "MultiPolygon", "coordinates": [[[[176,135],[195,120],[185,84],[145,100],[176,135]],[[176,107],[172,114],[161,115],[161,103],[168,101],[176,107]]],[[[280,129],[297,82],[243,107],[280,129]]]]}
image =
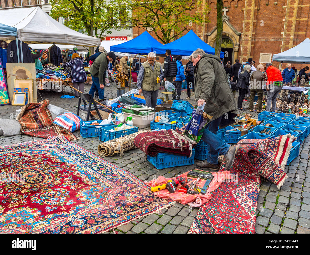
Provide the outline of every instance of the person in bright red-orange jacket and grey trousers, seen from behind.
{"type": "Polygon", "coordinates": [[[275,112],[276,111],[276,103],[277,96],[280,93],[283,87],[283,78],[280,70],[277,67],[272,66],[272,64],[266,64],[266,72],[267,72],[267,103],[266,110],[275,112]],[[272,104],[272,107],[271,107],[272,104]]]}

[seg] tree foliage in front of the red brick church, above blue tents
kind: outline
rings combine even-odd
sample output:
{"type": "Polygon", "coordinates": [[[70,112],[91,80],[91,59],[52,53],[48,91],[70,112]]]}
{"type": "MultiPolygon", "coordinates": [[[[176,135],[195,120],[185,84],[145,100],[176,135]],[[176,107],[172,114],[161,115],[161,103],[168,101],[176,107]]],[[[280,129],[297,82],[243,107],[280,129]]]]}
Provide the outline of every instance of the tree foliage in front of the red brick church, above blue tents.
{"type": "Polygon", "coordinates": [[[210,22],[206,15],[209,6],[201,0],[137,0],[132,2],[132,10],[132,26],[153,30],[164,44],[189,31],[194,24],[210,22]]]}

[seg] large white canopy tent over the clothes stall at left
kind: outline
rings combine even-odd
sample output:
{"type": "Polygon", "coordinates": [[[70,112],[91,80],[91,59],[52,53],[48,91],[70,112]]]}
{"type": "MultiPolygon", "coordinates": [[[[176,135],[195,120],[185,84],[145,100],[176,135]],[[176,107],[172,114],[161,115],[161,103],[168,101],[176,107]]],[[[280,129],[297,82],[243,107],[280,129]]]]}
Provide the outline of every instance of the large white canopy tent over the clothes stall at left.
{"type": "MultiPolygon", "coordinates": [[[[0,11],[0,23],[17,28],[18,39],[30,44],[65,44],[85,47],[100,45],[100,38],[72,30],[42,11],[40,7],[0,11]]],[[[3,40],[10,41],[11,38],[3,40]]]]}

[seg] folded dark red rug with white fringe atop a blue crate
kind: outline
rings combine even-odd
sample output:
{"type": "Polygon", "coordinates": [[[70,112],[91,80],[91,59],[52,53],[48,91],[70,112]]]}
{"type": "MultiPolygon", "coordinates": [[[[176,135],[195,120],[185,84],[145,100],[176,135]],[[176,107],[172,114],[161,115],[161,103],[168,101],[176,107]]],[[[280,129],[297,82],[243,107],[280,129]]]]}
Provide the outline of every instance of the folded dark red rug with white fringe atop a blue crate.
{"type": "Polygon", "coordinates": [[[141,133],[135,137],[134,143],[151,157],[161,152],[192,156],[192,145],[184,138],[179,128],[141,133]]]}

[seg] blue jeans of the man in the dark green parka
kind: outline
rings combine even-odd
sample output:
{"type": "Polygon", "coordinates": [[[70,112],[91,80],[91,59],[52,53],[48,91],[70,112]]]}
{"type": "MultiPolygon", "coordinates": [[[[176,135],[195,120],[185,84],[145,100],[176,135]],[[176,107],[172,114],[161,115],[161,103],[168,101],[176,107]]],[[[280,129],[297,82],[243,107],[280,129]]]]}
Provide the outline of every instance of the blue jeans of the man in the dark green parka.
{"type": "Polygon", "coordinates": [[[201,140],[206,142],[208,145],[207,162],[212,165],[217,165],[219,154],[225,156],[230,147],[229,144],[224,143],[221,137],[216,135],[223,116],[210,121],[205,126],[203,135],[201,136],[201,140]]]}

